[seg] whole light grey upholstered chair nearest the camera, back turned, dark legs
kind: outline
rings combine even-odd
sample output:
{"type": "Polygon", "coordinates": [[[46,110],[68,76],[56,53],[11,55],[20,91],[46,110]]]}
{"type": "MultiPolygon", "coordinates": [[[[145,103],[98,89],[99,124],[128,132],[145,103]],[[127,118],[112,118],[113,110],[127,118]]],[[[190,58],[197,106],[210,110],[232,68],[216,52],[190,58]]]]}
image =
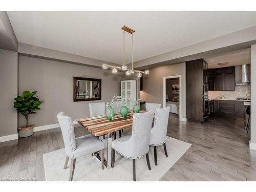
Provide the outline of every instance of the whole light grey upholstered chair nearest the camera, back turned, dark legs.
{"type": "Polygon", "coordinates": [[[148,151],[154,112],[135,113],[133,115],[132,134],[112,141],[112,168],[115,166],[115,151],[123,157],[133,159],[133,180],[136,181],[135,160],[146,156],[148,169],[151,170],[148,151]]]}

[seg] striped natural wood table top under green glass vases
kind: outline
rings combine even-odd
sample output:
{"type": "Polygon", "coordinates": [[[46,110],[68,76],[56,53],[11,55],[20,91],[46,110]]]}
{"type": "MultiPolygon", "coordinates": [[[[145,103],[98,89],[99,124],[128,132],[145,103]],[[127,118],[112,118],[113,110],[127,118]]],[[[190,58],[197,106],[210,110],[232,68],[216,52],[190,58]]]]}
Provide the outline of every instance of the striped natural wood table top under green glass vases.
{"type": "MultiPolygon", "coordinates": [[[[146,111],[140,111],[140,113],[143,112],[146,111]]],[[[116,113],[113,121],[108,120],[105,115],[80,118],[76,119],[76,121],[94,136],[102,136],[130,127],[133,124],[133,112],[129,111],[126,117],[116,113]]]]}

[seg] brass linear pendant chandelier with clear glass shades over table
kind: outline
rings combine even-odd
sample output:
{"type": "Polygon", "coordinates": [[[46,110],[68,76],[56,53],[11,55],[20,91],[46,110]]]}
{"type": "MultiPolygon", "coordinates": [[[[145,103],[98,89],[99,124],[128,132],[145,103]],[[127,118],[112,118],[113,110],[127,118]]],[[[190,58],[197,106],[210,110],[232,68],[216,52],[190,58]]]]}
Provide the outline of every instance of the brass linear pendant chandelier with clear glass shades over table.
{"type": "Polygon", "coordinates": [[[149,74],[150,71],[148,71],[148,70],[140,71],[140,70],[133,69],[133,33],[135,32],[135,30],[130,27],[127,27],[125,25],[121,29],[123,30],[123,65],[122,65],[122,67],[118,67],[118,66],[111,66],[111,65],[104,63],[102,65],[102,69],[110,68],[110,69],[112,69],[112,73],[114,73],[114,74],[116,74],[118,72],[118,70],[122,70],[122,71],[125,71],[125,74],[127,76],[130,76],[131,74],[133,74],[135,72],[137,72],[138,77],[141,77],[142,73],[149,74]],[[125,32],[132,34],[132,69],[127,69],[127,66],[125,66],[125,32]]]}

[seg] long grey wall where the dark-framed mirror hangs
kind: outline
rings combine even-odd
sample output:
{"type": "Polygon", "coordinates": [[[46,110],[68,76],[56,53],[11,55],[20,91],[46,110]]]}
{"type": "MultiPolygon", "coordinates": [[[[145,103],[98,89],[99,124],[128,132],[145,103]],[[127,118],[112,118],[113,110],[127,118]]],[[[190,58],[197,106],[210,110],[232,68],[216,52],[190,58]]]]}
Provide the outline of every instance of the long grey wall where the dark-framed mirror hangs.
{"type": "MultiPolygon", "coordinates": [[[[30,116],[29,123],[35,126],[57,123],[60,111],[73,119],[89,117],[88,103],[108,102],[113,95],[120,95],[120,75],[100,68],[19,56],[19,94],[25,90],[38,91],[39,98],[45,101],[40,105],[41,110],[30,116]],[[102,100],[73,102],[74,76],[101,79],[102,100]]],[[[20,116],[19,125],[24,123],[24,117],[20,116]]]]}

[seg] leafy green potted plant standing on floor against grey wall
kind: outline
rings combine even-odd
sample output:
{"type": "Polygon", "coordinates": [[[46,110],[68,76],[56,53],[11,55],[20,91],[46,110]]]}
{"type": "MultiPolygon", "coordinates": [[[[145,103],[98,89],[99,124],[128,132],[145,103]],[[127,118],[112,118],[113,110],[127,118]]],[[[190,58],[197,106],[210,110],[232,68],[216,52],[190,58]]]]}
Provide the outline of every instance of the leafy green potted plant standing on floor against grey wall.
{"type": "Polygon", "coordinates": [[[14,102],[14,108],[16,108],[17,112],[24,115],[26,118],[26,125],[22,127],[18,127],[19,137],[28,137],[33,135],[33,125],[28,124],[28,117],[30,114],[34,114],[35,111],[40,110],[38,106],[43,102],[40,101],[37,96],[34,96],[37,91],[29,92],[24,91],[23,95],[17,96],[14,102]]]}

